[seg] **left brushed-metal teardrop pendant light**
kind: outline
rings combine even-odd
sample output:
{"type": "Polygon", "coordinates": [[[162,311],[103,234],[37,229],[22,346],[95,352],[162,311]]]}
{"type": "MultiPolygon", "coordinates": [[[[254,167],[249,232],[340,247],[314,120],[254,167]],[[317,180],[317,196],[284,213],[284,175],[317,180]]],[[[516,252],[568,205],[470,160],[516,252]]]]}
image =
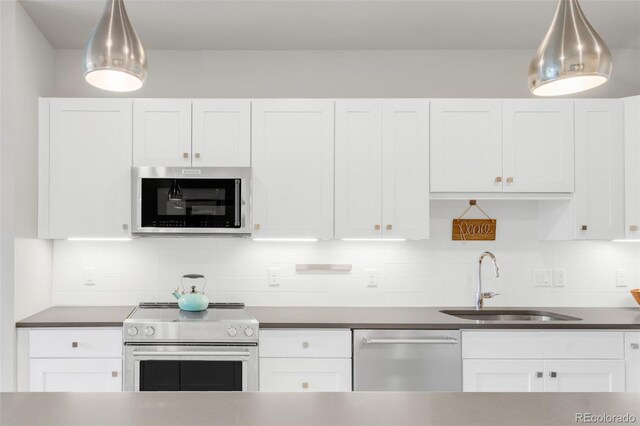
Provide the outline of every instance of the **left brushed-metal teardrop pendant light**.
{"type": "Polygon", "coordinates": [[[138,90],[147,78],[147,57],[123,0],[108,0],[82,56],[84,78],[113,92],[138,90]]]}

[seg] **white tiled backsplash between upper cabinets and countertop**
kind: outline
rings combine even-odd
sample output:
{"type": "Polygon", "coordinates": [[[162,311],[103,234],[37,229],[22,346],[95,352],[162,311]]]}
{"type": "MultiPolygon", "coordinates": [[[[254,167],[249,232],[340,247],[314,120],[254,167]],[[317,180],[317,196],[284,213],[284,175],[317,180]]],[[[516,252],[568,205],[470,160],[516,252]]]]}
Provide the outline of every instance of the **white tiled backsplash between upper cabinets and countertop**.
{"type": "Polygon", "coordinates": [[[248,305],[471,306],[477,260],[493,251],[501,277],[485,265],[485,291],[501,293],[487,306],[634,306],[640,287],[640,243],[537,241],[536,202],[481,202],[498,219],[495,242],[452,242],[451,219],[464,202],[436,201],[432,238],[417,242],[257,242],[243,239],[138,239],[129,242],[54,243],[55,304],[137,304],[172,301],[186,273],[209,279],[213,301],[248,305]],[[349,263],[348,273],[296,273],[296,263],[349,263]],[[96,285],[84,285],[84,268],[96,285]],[[267,268],[279,268],[270,287],[267,268]],[[367,269],[378,287],[367,287],[367,269]],[[564,288],[532,286],[534,269],[566,270],[564,288]],[[615,287],[617,269],[628,287],[615,287]]]}

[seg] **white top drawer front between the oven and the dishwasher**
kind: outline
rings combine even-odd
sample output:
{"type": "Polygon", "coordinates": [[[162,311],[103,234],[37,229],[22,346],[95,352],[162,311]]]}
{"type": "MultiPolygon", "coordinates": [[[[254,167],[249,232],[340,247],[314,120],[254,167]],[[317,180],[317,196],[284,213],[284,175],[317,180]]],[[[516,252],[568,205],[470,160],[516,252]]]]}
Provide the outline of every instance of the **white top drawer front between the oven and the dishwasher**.
{"type": "Polygon", "coordinates": [[[351,330],[260,330],[260,357],[351,358],[351,330]]]}

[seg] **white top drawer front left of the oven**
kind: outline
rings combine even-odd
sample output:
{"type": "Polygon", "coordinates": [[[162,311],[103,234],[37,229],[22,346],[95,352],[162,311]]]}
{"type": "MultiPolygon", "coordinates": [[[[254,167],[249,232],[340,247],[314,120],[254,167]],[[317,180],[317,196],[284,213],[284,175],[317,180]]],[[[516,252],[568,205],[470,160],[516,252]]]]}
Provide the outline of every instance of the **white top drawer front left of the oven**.
{"type": "Polygon", "coordinates": [[[122,358],[122,330],[30,330],[29,357],[122,358]]]}

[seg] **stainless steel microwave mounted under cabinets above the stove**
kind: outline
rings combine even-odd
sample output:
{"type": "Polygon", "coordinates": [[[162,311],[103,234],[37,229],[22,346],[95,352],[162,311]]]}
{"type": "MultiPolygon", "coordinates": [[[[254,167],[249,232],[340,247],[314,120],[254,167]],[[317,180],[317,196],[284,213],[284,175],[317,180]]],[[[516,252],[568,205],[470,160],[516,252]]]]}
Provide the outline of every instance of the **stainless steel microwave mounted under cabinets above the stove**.
{"type": "Polygon", "coordinates": [[[138,236],[251,235],[250,167],[133,167],[138,236]]]}

